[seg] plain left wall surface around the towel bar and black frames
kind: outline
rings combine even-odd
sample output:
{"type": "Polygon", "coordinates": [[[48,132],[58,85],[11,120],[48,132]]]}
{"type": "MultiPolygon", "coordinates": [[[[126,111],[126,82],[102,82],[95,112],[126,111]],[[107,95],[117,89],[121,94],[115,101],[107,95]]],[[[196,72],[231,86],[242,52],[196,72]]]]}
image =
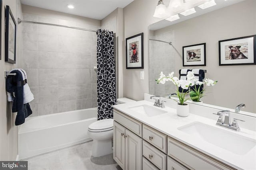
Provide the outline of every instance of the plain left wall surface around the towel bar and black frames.
{"type": "MultiPolygon", "coordinates": [[[[10,71],[17,67],[17,64],[10,64],[4,61],[4,9],[10,6],[14,19],[22,18],[20,0],[3,0],[2,8],[2,37],[1,37],[1,56],[0,60],[0,160],[16,160],[18,154],[18,127],[14,125],[16,113],[11,111],[11,103],[6,100],[4,71],[10,71]]],[[[16,35],[16,63],[22,54],[22,27],[17,27],[16,35]]]]}

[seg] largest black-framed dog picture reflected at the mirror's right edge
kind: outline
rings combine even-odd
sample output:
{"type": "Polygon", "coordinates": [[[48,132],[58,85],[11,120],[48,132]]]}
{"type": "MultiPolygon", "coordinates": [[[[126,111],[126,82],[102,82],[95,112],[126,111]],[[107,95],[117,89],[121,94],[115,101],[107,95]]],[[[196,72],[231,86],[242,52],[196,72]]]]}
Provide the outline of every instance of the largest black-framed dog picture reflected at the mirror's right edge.
{"type": "Polygon", "coordinates": [[[219,41],[219,65],[256,64],[256,35],[219,41]]]}

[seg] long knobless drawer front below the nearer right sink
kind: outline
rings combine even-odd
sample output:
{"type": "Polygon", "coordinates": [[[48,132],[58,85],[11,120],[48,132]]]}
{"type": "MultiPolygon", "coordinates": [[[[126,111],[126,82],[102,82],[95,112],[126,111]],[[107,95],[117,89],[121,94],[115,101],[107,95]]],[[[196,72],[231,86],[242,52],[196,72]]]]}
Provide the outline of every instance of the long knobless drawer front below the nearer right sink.
{"type": "Polygon", "coordinates": [[[195,170],[232,170],[233,168],[168,137],[168,156],[179,160],[185,166],[195,170]],[[186,156],[184,156],[186,155],[186,156]]]}

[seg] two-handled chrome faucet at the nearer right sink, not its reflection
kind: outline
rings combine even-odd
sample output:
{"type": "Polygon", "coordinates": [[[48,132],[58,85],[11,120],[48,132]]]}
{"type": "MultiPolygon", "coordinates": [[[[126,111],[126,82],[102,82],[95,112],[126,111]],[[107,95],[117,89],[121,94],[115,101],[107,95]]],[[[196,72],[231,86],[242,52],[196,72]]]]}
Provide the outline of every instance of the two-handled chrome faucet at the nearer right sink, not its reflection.
{"type": "Polygon", "coordinates": [[[226,127],[228,129],[232,129],[235,131],[240,131],[240,127],[238,126],[237,120],[239,121],[243,121],[243,120],[234,118],[234,120],[231,123],[229,110],[221,110],[221,111],[218,111],[217,114],[216,113],[213,113],[213,114],[219,115],[216,125],[226,127]],[[224,119],[223,119],[223,116],[225,116],[224,119]]]}

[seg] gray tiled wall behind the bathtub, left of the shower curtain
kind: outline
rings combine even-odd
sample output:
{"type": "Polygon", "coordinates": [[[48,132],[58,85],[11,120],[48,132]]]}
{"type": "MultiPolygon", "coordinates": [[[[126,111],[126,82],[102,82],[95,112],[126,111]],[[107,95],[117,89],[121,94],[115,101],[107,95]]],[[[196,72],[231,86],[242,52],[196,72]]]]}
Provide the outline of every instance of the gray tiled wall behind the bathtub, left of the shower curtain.
{"type": "MultiPolygon", "coordinates": [[[[23,13],[23,20],[97,30],[99,26],[23,13]]],[[[33,116],[97,106],[95,32],[23,23],[21,66],[33,116]]]]}

